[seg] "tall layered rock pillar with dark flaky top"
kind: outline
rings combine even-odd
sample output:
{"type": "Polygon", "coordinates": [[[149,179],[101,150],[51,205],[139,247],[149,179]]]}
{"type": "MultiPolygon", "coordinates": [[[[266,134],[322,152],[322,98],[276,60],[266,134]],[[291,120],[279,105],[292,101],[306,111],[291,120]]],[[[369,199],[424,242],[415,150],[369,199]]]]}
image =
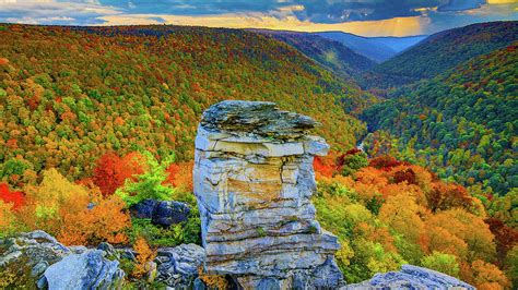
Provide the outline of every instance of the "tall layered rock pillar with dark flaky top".
{"type": "Polygon", "coordinates": [[[223,101],[203,113],[193,181],[207,271],[232,275],[245,288],[342,283],[337,238],[320,228],[309,201],[314,156],[329,149],[308,135],[316,125],[273,102],[223,101]]]}

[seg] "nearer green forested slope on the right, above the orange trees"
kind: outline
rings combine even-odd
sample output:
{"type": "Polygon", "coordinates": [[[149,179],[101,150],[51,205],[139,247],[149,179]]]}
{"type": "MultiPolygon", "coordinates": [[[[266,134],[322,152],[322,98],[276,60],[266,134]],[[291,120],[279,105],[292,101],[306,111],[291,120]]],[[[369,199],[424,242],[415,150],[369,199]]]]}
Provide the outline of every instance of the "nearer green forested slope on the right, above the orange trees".
{"type": "Polygon", "coordinates": [[[475,58],[367,109],[370,153],[427,165],[473,190],[505,195],[517,188],[517,48],[475,58]]]}

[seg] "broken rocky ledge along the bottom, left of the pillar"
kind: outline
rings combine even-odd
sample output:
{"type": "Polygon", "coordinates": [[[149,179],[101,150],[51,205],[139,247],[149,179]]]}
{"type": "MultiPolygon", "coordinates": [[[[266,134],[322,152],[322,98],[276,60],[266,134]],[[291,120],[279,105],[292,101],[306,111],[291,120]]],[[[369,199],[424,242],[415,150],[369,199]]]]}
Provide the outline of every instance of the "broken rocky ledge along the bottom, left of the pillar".
{"type": "MultiPolygon", "coordinates": [[[[161,247],[146,276],[173,289],[204,289],[198,278],[203,259],[197,244],[161,247]]],[[[16,289],[127,289],[121,261],[136,262],[136,253],[108,243],[64,246],[39,230],[20,233],[0,239],[0,288],[2,278],[15,275],[16,289]]]]}

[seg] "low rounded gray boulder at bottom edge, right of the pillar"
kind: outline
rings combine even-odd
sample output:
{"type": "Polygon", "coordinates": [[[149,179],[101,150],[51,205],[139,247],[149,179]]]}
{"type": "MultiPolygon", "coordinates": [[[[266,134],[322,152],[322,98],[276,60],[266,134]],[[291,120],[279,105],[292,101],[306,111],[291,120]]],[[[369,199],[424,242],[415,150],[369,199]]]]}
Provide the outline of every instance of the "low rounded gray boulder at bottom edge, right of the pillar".
{"type": "Polygon", "coordinates": [[[469,289],[475,288],[446,274],[423,267],[403,265],[399,271],[376,274],[373,279],[349,285],[342,290],[356,289],[469,289]]]}

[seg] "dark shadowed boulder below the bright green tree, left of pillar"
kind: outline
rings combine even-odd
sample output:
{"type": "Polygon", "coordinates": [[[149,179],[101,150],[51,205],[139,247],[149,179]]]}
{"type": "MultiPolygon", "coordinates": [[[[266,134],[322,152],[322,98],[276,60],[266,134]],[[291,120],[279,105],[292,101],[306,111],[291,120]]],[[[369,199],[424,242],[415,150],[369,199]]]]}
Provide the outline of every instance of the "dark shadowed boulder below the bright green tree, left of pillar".
{"type": "Polygon", "coordinates": [[[164,227],[180,223],[189,219],[190,207],[180,202],[158,202],[153,209],[151,222],[164,227]]]}

